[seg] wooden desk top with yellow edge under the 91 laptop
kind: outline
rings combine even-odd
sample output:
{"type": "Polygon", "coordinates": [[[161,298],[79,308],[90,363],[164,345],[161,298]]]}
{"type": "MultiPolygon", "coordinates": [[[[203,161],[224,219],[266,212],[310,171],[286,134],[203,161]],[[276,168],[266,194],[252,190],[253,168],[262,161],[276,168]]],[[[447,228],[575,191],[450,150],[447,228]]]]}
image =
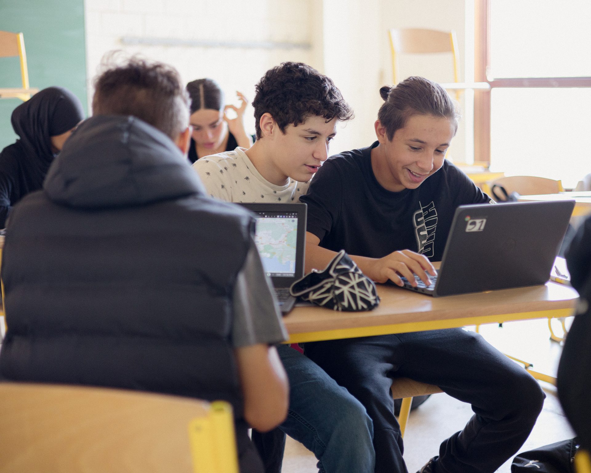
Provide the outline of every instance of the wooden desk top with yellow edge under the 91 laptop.
{"type": "Polygon", "coordinates": [[[296,307],[283,319],[290,333],[288,343],[567,317],[578,297],[570,286],[553,282],[447,297],[379,284],[378,294],[381,303],[369,312],[296,307]]]}

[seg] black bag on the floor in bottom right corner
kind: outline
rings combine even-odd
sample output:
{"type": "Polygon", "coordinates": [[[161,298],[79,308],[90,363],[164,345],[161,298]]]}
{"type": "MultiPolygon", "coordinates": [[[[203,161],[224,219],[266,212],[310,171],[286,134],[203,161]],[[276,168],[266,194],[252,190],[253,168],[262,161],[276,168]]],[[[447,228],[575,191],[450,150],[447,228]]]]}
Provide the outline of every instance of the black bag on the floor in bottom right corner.
{"type": "Polygon", "coordinates": [[[575,473],[574,454],[578,448],[574,438],[518,453],[511,473],[575,473]]]}

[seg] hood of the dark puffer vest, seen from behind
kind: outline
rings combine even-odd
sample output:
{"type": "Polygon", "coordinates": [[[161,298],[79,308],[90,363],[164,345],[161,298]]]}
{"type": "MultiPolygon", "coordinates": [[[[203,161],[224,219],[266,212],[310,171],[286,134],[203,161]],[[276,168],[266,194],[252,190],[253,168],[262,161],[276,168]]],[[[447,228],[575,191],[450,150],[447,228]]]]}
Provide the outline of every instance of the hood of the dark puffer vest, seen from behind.
{"type": "Polygon", "coordinates": [[[87,119],[53,161],[43,188],[56,203],[98,209],[145,205],[205,191],[178,147],[134,116],[87,119]]]}

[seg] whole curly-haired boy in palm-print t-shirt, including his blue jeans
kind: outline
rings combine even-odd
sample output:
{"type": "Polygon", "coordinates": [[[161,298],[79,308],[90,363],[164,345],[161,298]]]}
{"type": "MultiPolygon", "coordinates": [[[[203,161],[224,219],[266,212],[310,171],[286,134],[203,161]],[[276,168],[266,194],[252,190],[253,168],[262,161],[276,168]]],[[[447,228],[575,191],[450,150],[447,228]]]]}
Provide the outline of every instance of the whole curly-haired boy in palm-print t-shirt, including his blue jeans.
{"type": "MultiPolygon", "coordinates": [[[[256,85],[256,141],[248,150],[193,164],[210,196],[229,202],[297,202],[328,157],[339,121],[353,113],[329,77],[303,63],[283,63],[256,85]]],[[[285,433],[314,452],[326,473],[372,473],[373,427],[365,408],[316,363],[288,345],[277,352],[290,383],[285,422],[252,431],[265,472],[281,470],[285,433]]]]}

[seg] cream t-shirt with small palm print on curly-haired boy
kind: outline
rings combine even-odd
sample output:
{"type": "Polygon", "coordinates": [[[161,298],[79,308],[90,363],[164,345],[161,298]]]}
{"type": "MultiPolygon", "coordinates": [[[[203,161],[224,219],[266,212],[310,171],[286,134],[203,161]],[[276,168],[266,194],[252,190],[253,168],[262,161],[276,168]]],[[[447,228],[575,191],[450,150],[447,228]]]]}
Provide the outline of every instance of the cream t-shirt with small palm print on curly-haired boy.
{"type": "Polygon", "coordinates": [[[276,186],[261,176],[248,158],[245,148],[212,154],[195,161],[207,193],[226,202],[298,202],[308,190],[310,181],[290,179],[285,186],[276,186]]]}

